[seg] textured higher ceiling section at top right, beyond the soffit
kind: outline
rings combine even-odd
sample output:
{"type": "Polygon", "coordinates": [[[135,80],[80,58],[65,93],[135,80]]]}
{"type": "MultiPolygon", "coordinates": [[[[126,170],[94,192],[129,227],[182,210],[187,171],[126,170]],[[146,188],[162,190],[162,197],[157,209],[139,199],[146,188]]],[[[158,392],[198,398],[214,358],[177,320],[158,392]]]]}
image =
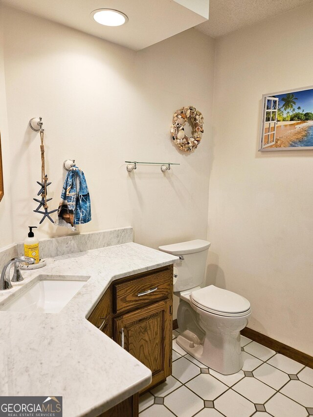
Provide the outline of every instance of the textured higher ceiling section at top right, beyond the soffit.
{"type": "Polygon", "coordinates": [[[209,20],[196,29],[218,38],[313,0],[210,0],[209,20]]]}

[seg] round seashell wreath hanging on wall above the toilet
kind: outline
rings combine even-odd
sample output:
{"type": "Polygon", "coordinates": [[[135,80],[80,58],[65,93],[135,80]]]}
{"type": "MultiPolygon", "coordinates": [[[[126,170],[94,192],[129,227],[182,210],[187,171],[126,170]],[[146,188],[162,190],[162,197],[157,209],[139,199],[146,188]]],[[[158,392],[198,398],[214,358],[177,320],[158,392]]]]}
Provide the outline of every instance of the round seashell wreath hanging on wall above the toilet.
{"type": "Polygon", "coordinates": [[[176,146],[182,151],[191,152],[194,149],[197,149],[203,133],[203,116],[201,111],[196,110],[192,106],[182,107],[181,109],[176,110],[173,116],[171,133],[176,146]],[[184,126],[186,125],[188,118],[193,125],[193,132],[190,137],[184,132],[184,126]]]}

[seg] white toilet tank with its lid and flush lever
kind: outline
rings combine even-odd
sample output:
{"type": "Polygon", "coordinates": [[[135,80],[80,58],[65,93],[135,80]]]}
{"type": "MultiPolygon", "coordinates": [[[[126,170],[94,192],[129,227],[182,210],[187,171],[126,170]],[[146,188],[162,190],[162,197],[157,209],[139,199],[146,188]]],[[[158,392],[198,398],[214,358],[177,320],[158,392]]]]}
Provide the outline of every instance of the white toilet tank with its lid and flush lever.
{"type": "Polygon", "coordinates": [[[194,288],[203,283],[206,258],[210,245],[211,243],[208,241],[197,239],[195,241],[159,246],[159,250],[162,252],[183,257],[174,265],[178,271],[174,292],[194,288]]]}

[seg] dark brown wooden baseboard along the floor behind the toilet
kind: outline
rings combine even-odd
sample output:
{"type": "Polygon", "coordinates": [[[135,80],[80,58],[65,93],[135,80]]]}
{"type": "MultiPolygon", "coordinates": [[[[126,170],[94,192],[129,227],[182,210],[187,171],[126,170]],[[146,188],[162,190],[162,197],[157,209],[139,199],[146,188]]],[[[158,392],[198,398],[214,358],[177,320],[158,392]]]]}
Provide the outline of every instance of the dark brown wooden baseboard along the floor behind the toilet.
{"type": "MultiPolygon", "coordinates": [[[[173,330],[176,329],[178,329],[178,323],[177,320],[173,320],[173,330]]],[[[261,345],[268,347],[269,349],[272,349],[275,352],[281,353],[282,355],[302,363],[309,368],[313,368],[313,356],[310,356],[307,353],[300,352],[294,348],[291,348],[290,346],[285,345],[284,343],[278,342],[277,340],[266,336],[265,334],[259,333],[258,331],[249,329],[247,327],[241,330],[241,334],[251,340],[254,340],[255,342],[260,343],[261,345]]]]}

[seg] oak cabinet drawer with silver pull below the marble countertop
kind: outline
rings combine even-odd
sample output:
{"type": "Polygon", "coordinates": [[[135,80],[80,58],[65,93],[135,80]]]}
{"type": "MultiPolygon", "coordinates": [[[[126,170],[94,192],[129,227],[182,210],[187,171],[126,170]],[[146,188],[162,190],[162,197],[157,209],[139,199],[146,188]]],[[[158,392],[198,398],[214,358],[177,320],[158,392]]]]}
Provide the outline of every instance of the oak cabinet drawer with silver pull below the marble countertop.
{"type": "Polygon", "coordinates": [[[172,268],[134,278],[113,286],[114,313],[138,308],[163,298],[169,298],[173,287],[172,268]]]}

